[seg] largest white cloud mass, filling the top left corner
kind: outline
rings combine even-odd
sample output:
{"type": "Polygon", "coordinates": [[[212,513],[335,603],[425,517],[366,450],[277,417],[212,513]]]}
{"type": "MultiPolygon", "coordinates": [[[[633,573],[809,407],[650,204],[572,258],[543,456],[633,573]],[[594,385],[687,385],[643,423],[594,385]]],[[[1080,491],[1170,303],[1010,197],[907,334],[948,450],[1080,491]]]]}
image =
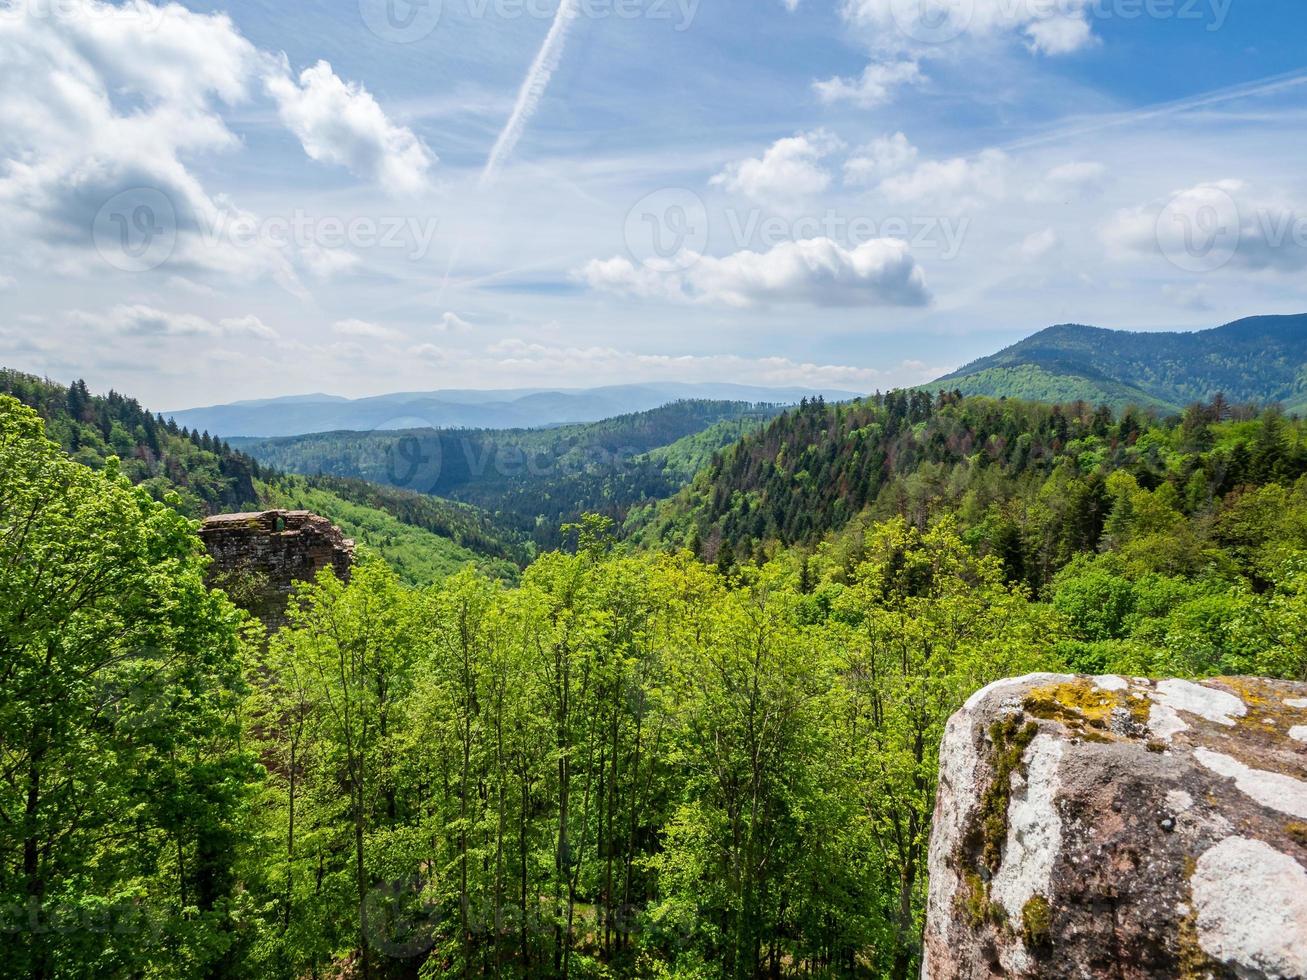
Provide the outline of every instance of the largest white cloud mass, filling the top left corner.
{"type": "Polygon", "coordinates": [[[115,195],[152,188],[179,260],[222,208],[183,155],[234,149],[218,107],[248,95],[259,54],[225,16],[88,0],[78,16],[20,4],[0,17],[0,213],[20,240],[90,244],[115,195]],[[190,234],[188,234],[190,233],[190,234]]]}

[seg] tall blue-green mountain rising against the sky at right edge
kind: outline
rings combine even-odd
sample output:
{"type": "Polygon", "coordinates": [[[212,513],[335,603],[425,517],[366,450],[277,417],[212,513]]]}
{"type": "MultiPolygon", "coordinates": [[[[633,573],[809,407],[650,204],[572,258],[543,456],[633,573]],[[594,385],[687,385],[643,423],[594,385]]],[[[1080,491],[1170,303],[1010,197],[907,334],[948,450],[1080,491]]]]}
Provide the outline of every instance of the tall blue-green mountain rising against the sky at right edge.
{"type": "Polygon", "coordinates": [[[927,387],[1166,412],[1219,392],[1230,402],[1280,402],[1302,412],[1307,409],[1307,315],[1252,316],[1193,333],[1063,324],[927,387]]]}

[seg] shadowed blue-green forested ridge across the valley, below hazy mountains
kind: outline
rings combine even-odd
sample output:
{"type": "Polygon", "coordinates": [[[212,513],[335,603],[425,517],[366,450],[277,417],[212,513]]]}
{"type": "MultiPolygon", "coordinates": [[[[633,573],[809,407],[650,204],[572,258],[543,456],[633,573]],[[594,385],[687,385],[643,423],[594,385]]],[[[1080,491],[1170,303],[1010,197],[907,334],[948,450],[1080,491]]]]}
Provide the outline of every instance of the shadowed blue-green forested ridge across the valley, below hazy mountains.
{"type": "Polygon", "coordinates": [[[320,433],[237,439],[267,465],[361,478],[476,504],[542,549],[584,512],[623,520],[676,493],[712,453],[782,412],[775,405],[677,401],[558,429],[320,433]]]}

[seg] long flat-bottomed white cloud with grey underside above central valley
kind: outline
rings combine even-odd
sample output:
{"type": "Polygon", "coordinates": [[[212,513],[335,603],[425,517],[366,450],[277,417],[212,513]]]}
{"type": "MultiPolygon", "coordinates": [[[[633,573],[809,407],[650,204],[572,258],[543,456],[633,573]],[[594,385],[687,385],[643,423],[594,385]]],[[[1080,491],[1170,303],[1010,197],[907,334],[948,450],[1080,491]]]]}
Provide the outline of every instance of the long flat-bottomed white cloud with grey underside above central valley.
{"type": "Polygon", "coordinates": [[[678,256],[664,268],[635,265],[617,256],[588,263],[578,277],[596,290],[731,307],[929,302],[925,273],[898,239],[874,239],[856,248],[829,238],[783,242],[767,252],[678,256]]]}

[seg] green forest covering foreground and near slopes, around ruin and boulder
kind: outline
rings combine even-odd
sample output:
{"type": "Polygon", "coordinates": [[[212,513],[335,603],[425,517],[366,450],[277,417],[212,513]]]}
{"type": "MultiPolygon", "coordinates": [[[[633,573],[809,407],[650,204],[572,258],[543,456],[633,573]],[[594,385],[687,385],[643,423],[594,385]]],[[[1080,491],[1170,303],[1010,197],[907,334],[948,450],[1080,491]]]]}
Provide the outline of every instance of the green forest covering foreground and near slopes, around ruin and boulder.
{"type": "Polygon", "coordinates": [[[365,547],[268,636],[196,507],[332,491],[82,393],[0,396],[3,976],[915,976],[971,693],[1307,679],[1273,409],[808,402],[520,574],[474,510],[337,483],[469,559],[365,547]]]}

